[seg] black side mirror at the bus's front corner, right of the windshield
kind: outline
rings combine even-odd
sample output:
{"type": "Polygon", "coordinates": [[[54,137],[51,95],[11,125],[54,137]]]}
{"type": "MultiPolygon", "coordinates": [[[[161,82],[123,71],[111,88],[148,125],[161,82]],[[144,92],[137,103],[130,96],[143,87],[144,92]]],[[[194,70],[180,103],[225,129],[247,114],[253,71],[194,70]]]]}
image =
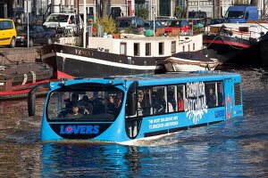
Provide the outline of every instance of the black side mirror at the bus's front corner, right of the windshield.
{"type": "Polygon", "coordinates": [[[130,85],[130,90],[128,93],[128,98],[129,98],[129,105],[128,105],[129,113],[128,113],[128,115],[129,116],[136,115],[136,111],[137,111],[137,95],[136,95],[137,87],[138,87],[137,81],[135,81],[132,85],[130,85]]]}

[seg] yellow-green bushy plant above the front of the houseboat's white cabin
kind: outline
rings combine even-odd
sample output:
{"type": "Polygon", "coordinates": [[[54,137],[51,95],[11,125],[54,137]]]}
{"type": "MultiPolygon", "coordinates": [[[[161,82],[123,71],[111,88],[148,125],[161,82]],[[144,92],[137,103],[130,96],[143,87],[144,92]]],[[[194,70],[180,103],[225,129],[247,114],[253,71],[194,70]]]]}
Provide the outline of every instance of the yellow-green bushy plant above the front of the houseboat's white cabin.
{"type": "Polygon", "coordinates": [[[98,26],[102,25],[104,27],[104,32],[107,34],[113,34],[116,31],[116,23],[112,17],[105,16],[103,18],[99,18],[93,24],[93,27],[96,29],[96,34],[98,31],[98,26]]]}

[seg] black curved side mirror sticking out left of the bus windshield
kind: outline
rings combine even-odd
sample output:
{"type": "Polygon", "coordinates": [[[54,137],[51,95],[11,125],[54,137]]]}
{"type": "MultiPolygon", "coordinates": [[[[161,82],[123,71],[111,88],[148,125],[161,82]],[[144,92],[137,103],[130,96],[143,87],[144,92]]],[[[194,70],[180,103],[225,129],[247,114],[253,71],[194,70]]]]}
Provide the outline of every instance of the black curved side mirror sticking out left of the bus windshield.
{"type": "Polygon", "coordinates": [[[33,87],[29,93],[28,93],[28,113],[29,117],[35,116],[36,112],[36,106],[35,106],[35,100],[36,100],[36,92],[38,92],[41,88],[48,88],[49,83],[44,83],[40,85],[36,85],[33,87]]]}

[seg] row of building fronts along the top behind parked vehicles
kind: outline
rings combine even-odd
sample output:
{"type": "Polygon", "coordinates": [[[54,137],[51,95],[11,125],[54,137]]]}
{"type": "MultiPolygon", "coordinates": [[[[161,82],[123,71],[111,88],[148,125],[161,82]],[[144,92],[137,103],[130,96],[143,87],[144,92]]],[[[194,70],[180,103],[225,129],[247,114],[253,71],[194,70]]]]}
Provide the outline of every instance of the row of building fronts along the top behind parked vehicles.
{"type": "MultiPolygon", "coordinates": [[[[0,18],[21,19],[22,22],[26,22],[24,1],[0,0],[0,18]]],[[[210,18],[221,17],[235,2],[235,0],[188,0],[188,11],[203,11],[210,18]]],[[[84,13],[84,0],[30,0],[30,3],[29,22],[44,20],[53,12],[84,13]]],[[[243,3],[248,4],[250,1],[244,0],[243,3]]],[[[173,16],[177,5],[186,7],[186,0],[86,0],[86,11],[94,17],[105,13],[116,18],[137,15],[138,8],[145,8],[148,10],[148,19],[153,20],[154,15],[173,16]]],[[[258,8],[260,15],[267,17],[268,0],[259,1],[258,8]]]]}

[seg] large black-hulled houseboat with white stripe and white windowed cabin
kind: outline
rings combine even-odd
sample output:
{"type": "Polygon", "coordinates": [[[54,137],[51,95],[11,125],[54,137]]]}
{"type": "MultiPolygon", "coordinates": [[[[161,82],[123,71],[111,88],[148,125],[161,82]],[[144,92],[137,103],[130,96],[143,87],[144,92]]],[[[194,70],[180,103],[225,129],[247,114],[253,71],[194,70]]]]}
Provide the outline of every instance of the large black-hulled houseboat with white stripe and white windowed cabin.
{"type": "Polygon", "coordinates": [[[46,45],[40,58],[54,69],[54,78],[107,77],[163,73],[163,61],[183,50],[202,48],[202,35],[178,37],[91,37],[88,48],[46,45]]]}

